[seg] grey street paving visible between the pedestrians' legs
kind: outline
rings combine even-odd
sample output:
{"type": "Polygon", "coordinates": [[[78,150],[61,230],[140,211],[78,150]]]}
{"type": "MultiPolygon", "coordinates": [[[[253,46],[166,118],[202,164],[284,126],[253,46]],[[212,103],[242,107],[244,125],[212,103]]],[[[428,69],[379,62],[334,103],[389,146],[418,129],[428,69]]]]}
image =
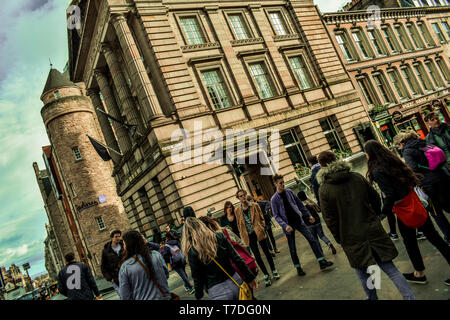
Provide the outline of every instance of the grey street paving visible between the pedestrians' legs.
{"type": "MultiPolygon", "coordinates": [[[[277,254],[274,262],[281,275],[281,279],[273,280],[272,285],[266,288],[264,286],[263,274],[260,272],[258,275],[259,290],[255,294],[258,300],[365,300],[364,290],[355,271],[350,267],[342,248],[335,243],[326,225],[324,223],[322,225],[325,235],[337,249],[337,254],[333,255],[331,250],[321,242],[326,259],[334,262],[332,269],[320,271],[319,265],[306,239],[299,232],[296,232],[297,252],[302,268],[306,273],[304,277],[297,276],[289,254],[286,237],[277,225],[277,228],[274,228],[274,234],[277,238],[277,246],[281,253],[277,254]]],[[[385,230],[388,230],[386,219],[383,221],[383,226],[385,230]]],[[[397,268],[404,273],[413,272],[412,264],[406,254],[402,239],[400,238],[394,241],[394,244],[399,251],[398,257],[394,260],[397,268]]],[[[420,240],[419,246],[425,262],[425,274],[428,279],[428,284],[411,284],[417,299],[450,299],[450,288],[444,284],[444,280],[450,277],[448,264],[437,249],[427,240],[420,240]]],[[[262,256],[267,265],[264,254],[262,256]]],[[[189,266],[187,266],[186,272],[190,275],[189,266]]],[[[182,300],[195,300],[194,294],[189,295],[184,291],[181,278],[173,271],[170,272],[169,287],[182,300]]],[[[377,290],[379,299],[402,299],[397,288],[383,272],[381,272],[380,287],[381,289],[377,290]]],[[[108,293],[103,298],[105,300],[119,299],[114,292],[108,293]]],[[[203,299],[208,299],[206,293],[203,299]]]]}

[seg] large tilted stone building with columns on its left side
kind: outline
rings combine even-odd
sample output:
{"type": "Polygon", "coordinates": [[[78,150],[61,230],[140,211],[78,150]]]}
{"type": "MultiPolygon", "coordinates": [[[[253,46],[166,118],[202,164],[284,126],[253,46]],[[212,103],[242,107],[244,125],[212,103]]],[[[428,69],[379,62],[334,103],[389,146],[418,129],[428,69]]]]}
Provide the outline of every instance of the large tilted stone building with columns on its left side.
{"type": "Polygon", "coordinates": [[[177,129],[190,141],[196,122],[222,133],[277,129],[276,171],[288,182],[308,155],[358,153],[375,136],[312,0],[72,4],[82,20],[69,31],[70,79],[86,84],[96,110],[137,126],[131,137],[98,114],[108,146],[123,154],[117,192],[131,226],[147,236],[177,223],[185,206],[205,215],[237,202],[238,188],[265,199],[274,192],[259,174],[267,153],[256,164],[247,161],[250,148],[245,164],[184,164],[171,157],[177,129]]]}

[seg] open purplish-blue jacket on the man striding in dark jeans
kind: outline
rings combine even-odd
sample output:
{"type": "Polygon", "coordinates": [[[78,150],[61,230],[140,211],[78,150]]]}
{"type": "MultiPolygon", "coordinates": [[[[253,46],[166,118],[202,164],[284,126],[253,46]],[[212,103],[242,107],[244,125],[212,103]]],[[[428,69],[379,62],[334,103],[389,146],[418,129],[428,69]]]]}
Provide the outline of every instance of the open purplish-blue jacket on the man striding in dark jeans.
{"type": "MultiPolygon", "coordinates": [[[[302,224],[304,224],[301,212],[303,213],[305,219],[309,219],[311,214],[309,213],[308,209],[306,209],[306,207],[303,205],[303,203],[300,201],[300,199],[291,190],[286,189],[285,191],[289,204],[291,205],[292,209],[294,209],[294,211],[300,216],[300,221],[302,221],[302,224]]],[[[281,198],[278,192],[275,192],[275,194],[272,196],[272,199],[270,199],[270,204],[272,206],[273,217],[280,224],[281,228],[283,229],[283,232],[285,234],[290,234],[290,232],[286,231],[286,227],[288,226],[288,220],[286,216],[286,210],[283,204],[283,198],[281,198]]]]}

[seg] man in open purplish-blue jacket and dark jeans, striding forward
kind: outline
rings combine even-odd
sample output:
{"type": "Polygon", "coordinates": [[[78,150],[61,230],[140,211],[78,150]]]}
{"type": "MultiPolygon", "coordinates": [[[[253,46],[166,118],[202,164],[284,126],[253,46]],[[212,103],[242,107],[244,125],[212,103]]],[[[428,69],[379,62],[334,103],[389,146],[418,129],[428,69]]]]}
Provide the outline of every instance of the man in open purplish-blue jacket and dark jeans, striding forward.
{"type": "Polygon", "coordinates": [[[317,262],[319,263],[320,270],[325,270],[333,265],[333,262],[327,261],[323,256],[322,247],[319,244],[319,240],[313,237],[305,222],[302,219],[301,213],[305,219],[314,223],[314,218],[309,213],[308,209],[303,205],[299,198],[297,198],[292,190],[285,189],[284,178],[281,174],[275,174],[272,178],[276,188],[275,194],[270,200],[272,206],[272,213],[275,220],[283,229],[286,235],[289,252],[291,254],[294,267],[297,269],[299,276],[304,276],[306,273],[303,271],[300,265],[300,259],[297,254],[297,247],[295,245],[295,230],[299,231],[308,241],[317,262]]]}

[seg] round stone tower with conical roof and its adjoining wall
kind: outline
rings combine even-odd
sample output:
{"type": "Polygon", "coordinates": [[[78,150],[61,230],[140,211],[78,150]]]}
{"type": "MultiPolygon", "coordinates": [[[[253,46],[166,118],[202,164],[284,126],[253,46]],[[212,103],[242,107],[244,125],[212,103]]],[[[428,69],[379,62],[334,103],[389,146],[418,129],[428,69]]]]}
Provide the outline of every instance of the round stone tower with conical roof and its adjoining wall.
{"type": "Polygon", "coordinates": [[[49,72],[41,100],[51,142],[43,148],[47,180],[33,165],[51,229],[62,256],[77,253],[101,276],[102,250],[110,241],[110,232],[128,230],[130,225],[116,193],[111,165],[99,157],[88,139],[89,135],[105,143],[96,113],[83,83],[71,82],[56,69],[49,72]]]}

